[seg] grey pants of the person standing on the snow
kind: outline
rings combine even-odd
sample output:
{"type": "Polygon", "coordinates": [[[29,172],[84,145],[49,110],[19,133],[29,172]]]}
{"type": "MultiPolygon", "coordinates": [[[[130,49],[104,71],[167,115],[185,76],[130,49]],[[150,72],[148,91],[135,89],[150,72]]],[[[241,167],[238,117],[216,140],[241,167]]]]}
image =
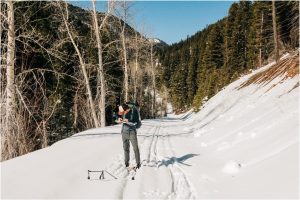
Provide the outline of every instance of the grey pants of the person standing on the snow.
{"type": "Polygon", "coordinates": [[[129,164],[130,142],[133,147],[136,164],[140,164],[140,151],[139,151],[139,146],[138,146],[138,141],[136,136],[136,129],[130,128],[127,125],[123,125],[122,140],[123,140],[123,148],[124,148],[125,165],[129,164]]]}

